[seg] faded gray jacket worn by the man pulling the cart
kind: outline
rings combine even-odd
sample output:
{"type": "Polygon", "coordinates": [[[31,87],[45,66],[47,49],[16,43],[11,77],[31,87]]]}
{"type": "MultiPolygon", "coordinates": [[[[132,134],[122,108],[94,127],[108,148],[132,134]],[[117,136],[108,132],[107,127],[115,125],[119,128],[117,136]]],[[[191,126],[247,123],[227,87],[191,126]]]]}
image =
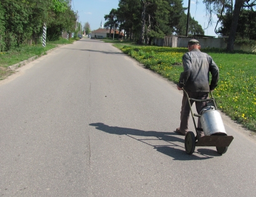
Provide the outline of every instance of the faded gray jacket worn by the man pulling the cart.
{"type": "Polygon", "coordinates": [[[218,66],[212,57],[193,49],[183,55],[184,71],[180,74],[178,86],[190,92],[210,92],[218,83],[218,66]],[[212,80],[209,85],[209,72],[212,80]]]}

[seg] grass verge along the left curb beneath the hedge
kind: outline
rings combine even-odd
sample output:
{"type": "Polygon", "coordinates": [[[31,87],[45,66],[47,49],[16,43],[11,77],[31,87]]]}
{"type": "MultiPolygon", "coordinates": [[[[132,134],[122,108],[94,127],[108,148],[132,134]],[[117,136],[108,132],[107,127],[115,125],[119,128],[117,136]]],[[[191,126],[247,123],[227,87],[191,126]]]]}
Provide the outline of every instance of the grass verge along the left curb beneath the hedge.
{"type": "Polygon", "coordinates": [[[42,56],[46,54],[49,49],[56,48],[59,44],[70,44],[76,39],[64,39],[61,38],[58,41],[46,43],[44,48],[42,44],[38,45],[24,45],[12,51],[6,51],[0,53],[0,80],[5,79],[14,72],[8,69],[8,66],[17,64],[21,61],[29,59],[33,56],[42,56]]]}

